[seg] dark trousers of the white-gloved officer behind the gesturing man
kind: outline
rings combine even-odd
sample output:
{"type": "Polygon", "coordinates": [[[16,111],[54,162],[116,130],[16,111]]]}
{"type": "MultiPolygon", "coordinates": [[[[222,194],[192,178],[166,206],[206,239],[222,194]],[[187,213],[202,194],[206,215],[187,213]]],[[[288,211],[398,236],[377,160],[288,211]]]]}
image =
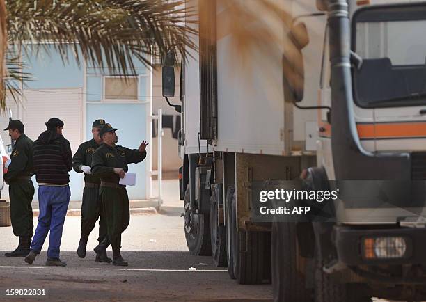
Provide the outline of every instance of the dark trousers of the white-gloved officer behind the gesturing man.
{"type": "Polygon", "coordinates": [[[102,242],[107,236],[107,219],[104,217],[102,202],[100,201],[99,189],[84,188],[83,202],[81,205],[81,238],[87,240],[93,231],[97,219],[99,220],[99,237],[97,241],[102,242]]]}

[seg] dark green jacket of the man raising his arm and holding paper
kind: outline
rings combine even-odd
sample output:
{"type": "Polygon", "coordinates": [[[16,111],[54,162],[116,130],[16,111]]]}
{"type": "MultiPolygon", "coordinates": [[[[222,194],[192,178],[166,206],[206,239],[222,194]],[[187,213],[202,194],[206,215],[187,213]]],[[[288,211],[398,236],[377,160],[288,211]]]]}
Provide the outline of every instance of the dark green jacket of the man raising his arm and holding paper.
{"type": "Polygon", "coordinates": [[[128,149],[120,145],[111,147],[105,143],[97,148],[92,157],[92,175],[100,177],[103,182],[118,184],[120,176],[114,173],[114,168],[122,168],[125,172],[129,170],[128,164],[137,164],[146,157],[146,151],[139,152],[138,149],[128,149]]]}

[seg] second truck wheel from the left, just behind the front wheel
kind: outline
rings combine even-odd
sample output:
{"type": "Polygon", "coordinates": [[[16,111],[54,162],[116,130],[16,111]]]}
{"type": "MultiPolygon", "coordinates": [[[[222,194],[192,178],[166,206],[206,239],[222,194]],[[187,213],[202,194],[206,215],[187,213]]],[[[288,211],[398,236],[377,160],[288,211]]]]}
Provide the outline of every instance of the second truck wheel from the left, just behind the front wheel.
{"type": "Polygon", "coordinates": [[[216,191],[210,196],[210,240],[212,256],[216,267],[226,267],[226,230],[219,225],[218,198],[216,191]]]}

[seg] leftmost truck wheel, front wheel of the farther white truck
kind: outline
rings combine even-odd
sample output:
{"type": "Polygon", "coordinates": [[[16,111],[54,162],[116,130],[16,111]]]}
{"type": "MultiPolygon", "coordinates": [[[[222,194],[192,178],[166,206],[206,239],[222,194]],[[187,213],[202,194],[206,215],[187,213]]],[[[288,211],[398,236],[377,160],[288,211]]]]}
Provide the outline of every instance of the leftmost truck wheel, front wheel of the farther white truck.
{"type": "Polygon", "coordinates": [[[210,217],[205,214],[195,214],[189,198],[189,184],[184,198],[184,230],[185,239],[191,255],[210,256],[210,217]]]}

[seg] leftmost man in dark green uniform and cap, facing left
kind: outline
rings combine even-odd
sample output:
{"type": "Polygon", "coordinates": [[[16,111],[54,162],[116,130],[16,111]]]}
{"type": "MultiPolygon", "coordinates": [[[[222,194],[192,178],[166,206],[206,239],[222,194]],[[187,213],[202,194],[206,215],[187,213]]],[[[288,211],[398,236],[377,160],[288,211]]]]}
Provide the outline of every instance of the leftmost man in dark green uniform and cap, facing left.
{"type": "Polygon", "coordinates": [[[34,186],[31,181],[33,171],[33,141],[24,134],[24,124],[20,120],[10,120],[10,137],[15,141],[8,172],[4,175],[9,184],[10,219],[13,234],[19,237],[19,245],[15,251],[6,253],[6,257],[25,257],[30,251],[33,237],[33,209],[31,201],[34,196],[34,186]]]}

